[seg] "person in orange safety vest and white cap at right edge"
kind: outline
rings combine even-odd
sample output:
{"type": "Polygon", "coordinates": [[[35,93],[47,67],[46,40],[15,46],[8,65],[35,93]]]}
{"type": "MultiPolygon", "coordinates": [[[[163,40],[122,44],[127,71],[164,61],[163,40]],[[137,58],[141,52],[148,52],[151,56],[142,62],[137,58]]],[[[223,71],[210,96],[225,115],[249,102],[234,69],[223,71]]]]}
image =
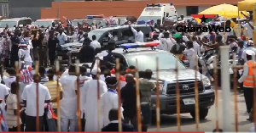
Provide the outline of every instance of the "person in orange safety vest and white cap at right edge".
{"type": "MultiPolygon", "coordinates": [[[[246,52],[247,62],[243,65],[243,74],[238,80],[239,83],[243,83],[244,97],[247,105],[247,113],[250,114],[253,108],[253,88],[256,78],[254,77],[256,68],[255,53],[253,50],[247,50],[246,52]]],[[[249,120],[249,119],[248,119],[249,120]]]]}

